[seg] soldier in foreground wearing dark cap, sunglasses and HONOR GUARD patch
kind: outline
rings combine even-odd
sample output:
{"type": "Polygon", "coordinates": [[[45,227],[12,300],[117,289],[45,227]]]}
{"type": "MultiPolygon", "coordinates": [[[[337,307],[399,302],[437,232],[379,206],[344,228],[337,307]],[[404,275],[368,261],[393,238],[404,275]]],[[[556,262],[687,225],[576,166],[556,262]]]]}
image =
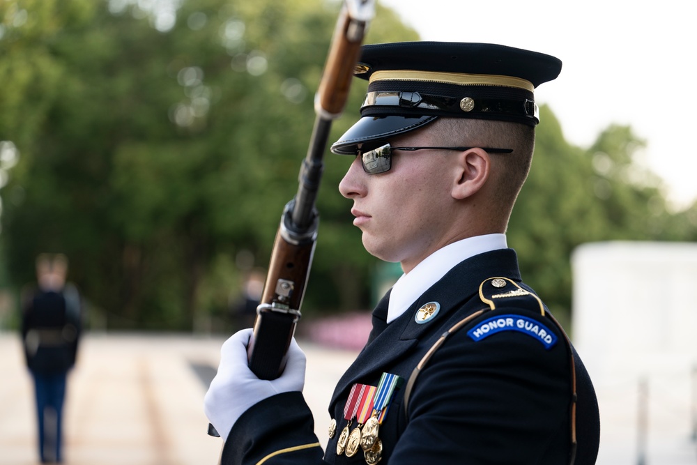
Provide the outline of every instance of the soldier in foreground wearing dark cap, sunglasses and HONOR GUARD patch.
{"type": "Polygon", "coordinates": [[[259,381],[251,330],[222,347],[206,414],[222,464],[595,463],[599,413],[581,359],[521,280],[505,231],[533,156],[534,89],[553,56],[477,43],[363,47],[361,119],[332,145],[366,250],[404,275],[329,406],[325,451],[305,356],[259,381]]]}

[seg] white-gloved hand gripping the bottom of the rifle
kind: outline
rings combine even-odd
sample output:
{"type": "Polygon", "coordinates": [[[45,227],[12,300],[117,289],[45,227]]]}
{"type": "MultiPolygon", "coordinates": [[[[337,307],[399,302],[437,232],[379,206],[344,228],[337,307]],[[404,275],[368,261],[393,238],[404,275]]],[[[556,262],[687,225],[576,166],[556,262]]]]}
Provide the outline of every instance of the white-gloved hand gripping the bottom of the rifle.
{"type": "Polygon", "coordinates": [[[279,378],[259,379],[247,362],[247,344],[252,329],[240,330],[220,349],[220,366],[210,382],[204,411],[223,441],[227,441],[232,425],[252,405],[281,392],[302,391],[305,386],[305,353],[293,337],[288,349],[286,367],[279,378]]]}

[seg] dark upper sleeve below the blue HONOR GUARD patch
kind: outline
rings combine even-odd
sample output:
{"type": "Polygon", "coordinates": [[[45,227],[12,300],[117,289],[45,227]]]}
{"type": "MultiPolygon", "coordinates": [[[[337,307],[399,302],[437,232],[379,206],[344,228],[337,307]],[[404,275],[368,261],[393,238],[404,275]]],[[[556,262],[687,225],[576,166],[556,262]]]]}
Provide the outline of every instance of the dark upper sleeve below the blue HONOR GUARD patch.
{"type": "MultiPolygon", "coordinates": [[[[472,328],[473,326],[469,326],[472,328]]],[[[462,328],[415,382],[395,464],[568,463],[569,354],[501,331],[475,342],[462,328]]],[[[403,423],[403,424],[404,424],[403,423]]]]}

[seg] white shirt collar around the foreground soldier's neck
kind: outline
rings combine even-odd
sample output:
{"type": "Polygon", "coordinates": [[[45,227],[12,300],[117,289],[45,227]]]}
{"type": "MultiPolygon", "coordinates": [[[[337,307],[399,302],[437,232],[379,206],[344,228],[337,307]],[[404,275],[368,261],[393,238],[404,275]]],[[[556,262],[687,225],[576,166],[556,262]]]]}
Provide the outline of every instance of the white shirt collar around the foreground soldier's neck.
{"type": "Polygon", "coordinates": [[[485,234],[462,239],[436,250],[409,273],[401,275],[392,287],[387,322],[399,318],[421,294],[461,261],[507,247],[505,234],[485,234]]]}

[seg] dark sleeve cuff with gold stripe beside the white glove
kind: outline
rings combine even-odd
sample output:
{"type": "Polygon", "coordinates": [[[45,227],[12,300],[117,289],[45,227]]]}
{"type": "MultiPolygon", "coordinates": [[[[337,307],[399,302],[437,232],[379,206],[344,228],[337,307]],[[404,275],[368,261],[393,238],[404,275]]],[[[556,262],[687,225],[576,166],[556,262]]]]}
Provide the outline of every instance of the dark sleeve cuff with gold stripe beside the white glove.
{"type": "Polygon", "coordinates": [[[233,425],[221,465],[325,464],[314,419],[301,392],[284,392],[248,409],[233,425]]]}

